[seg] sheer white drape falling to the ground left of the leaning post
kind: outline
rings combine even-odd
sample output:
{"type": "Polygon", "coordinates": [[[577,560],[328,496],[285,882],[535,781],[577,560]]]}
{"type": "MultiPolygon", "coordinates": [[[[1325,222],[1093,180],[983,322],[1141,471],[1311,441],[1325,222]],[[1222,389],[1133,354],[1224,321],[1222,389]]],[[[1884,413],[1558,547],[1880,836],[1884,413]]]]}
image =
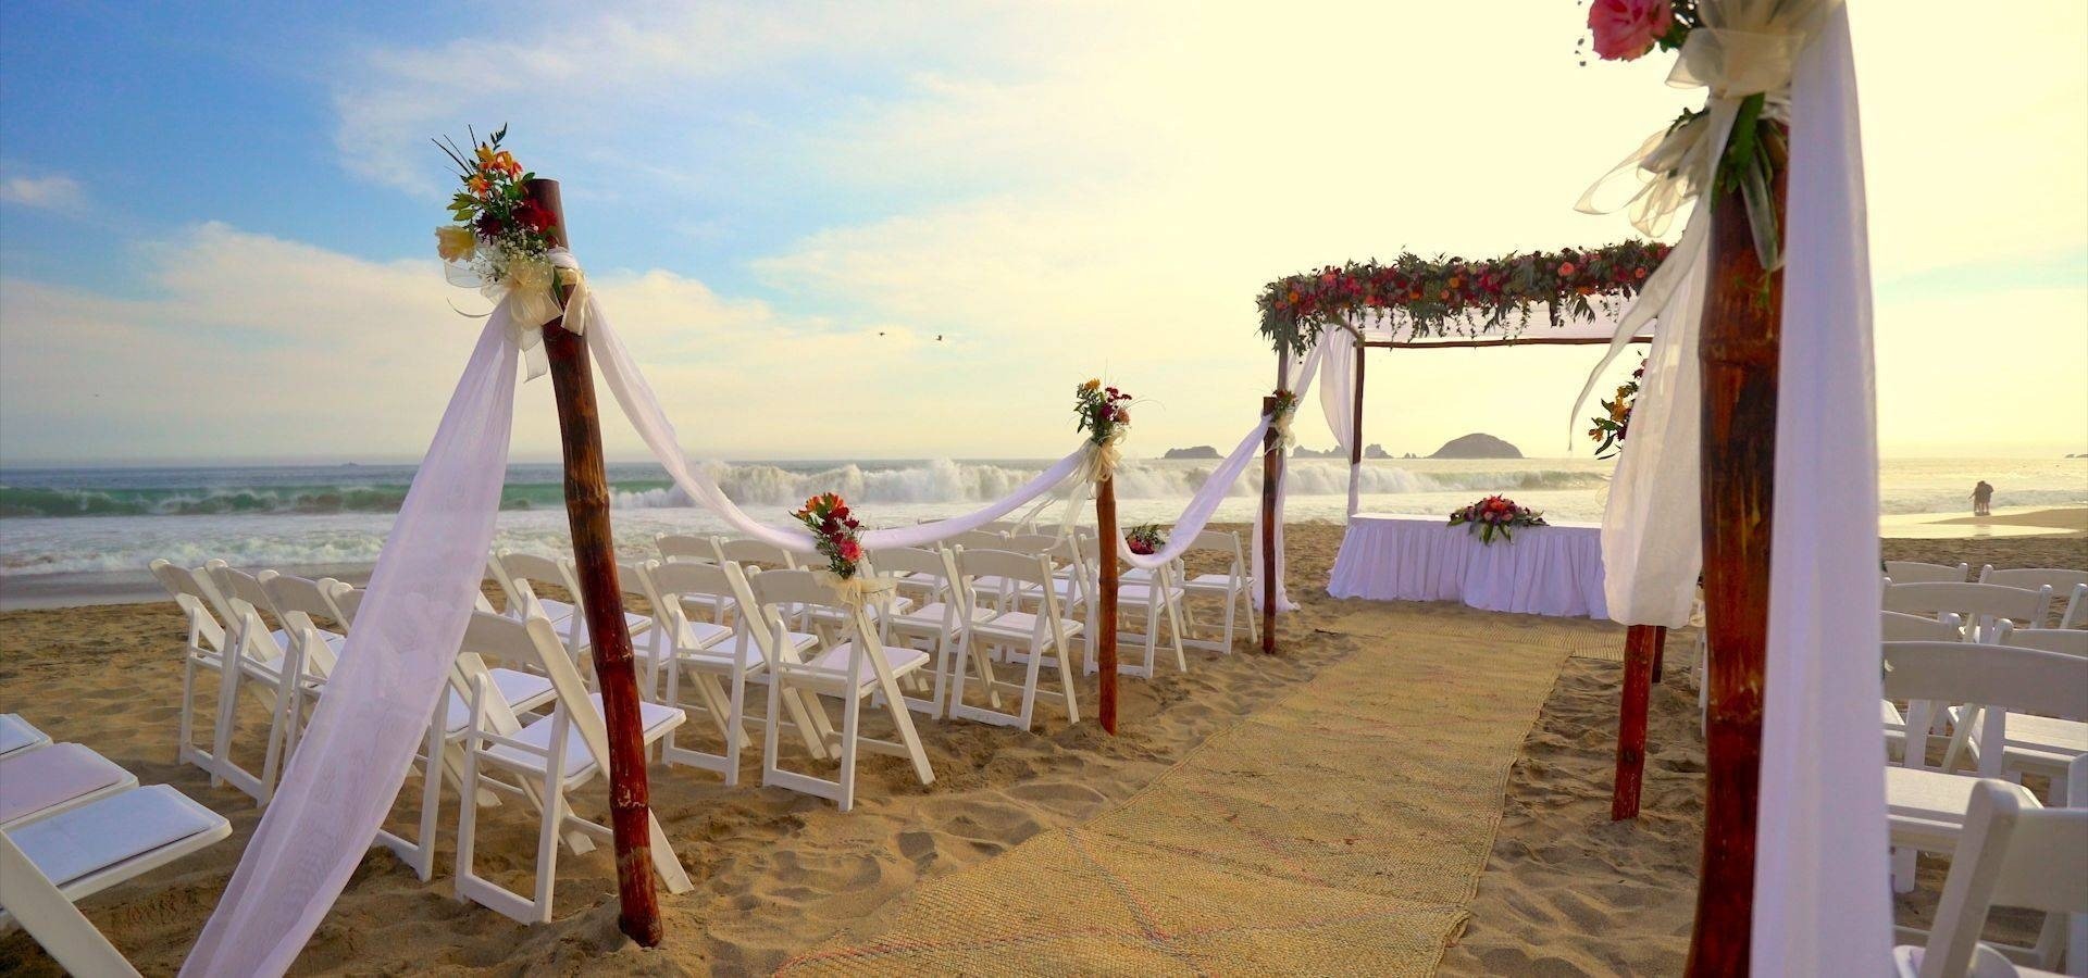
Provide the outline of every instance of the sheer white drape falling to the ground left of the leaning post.
{"type": "Polygon", "coordinates": [[[384,824],[484,576],[516,354],[497,309],[413,473],[311,730],[182,974],[288,970],[384,824]]]}

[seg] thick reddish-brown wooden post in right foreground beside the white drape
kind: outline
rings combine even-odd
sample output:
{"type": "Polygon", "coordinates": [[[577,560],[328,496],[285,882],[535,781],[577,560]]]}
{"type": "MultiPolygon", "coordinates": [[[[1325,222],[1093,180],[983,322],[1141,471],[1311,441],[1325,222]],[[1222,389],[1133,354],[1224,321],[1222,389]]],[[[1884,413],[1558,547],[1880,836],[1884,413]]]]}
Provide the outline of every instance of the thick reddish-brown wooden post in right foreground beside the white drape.
{"type": "MultiPolygon", "coordinates": [[[[1777,227],[1783,169],[1775,181],[1777,227]]],[[[1700,202],[1698,206],[1706,206],[1700,202]]],[[[1748,974],[1754,828],[1762,776],[1769,638],[1769,519],[1777,469],[1777,352],[1783,275],[1754,254],[1737,192],[1714,192],[1704,296],[1704,611],[1710,646],[1704,734],[1704,867],[1689,972],[1748,974]]]]}

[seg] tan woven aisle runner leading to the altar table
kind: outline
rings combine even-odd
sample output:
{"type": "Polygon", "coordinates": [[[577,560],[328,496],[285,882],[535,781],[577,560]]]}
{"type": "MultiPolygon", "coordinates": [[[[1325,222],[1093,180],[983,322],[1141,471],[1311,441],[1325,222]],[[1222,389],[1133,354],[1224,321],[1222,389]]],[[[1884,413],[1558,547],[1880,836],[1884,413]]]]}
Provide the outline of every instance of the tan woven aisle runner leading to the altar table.
{"type": "Polygon", "coordinates": [[[1432,974],[1564,638],[1374,640],[1121,807],[779,974],[1432,974]]]}

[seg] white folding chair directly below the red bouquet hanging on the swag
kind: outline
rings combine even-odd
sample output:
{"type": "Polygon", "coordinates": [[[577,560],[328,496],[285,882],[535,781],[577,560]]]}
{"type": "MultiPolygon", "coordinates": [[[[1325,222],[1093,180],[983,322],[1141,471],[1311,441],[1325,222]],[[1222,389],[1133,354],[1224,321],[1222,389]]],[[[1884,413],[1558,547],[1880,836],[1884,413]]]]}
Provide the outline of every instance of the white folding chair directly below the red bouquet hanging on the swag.
{"type": "MultiPolygon", "coordinates": [[[[827,588],[810,571],[766,571],[748,580],[756,617],[750,628],[768,628],[783,646],[789,636],[785,615],[789,609],[841,609],[846,628],[839,640],[823,649],[808,661],[787,661],[779,657],[768,663],[768,726],[762,742],[762,784],[802,790],[831,799],[841,811],[854,807],[856,799],[856,753],[889,753],[912,761],[921,784],[935,780],[935,769],[915,734],[912,711],[906,707],[898,680],[929,663],[919,649],[885,649],[877,630],[860,609],[841,605],[833,588],[827,588]],[[793,690],[841,701],[841,730],[831,736],[829,747],[839,753],[841,769],[837,780],[810,774],[787,772],[777,757],[777,715],[783,696],[793,690]],[[862,701],[881,699],[898,732],[898,740],[877,740],[862,734],[862,701]]],[[[818,711],[823,715],[823,709],[818,711]]]]}

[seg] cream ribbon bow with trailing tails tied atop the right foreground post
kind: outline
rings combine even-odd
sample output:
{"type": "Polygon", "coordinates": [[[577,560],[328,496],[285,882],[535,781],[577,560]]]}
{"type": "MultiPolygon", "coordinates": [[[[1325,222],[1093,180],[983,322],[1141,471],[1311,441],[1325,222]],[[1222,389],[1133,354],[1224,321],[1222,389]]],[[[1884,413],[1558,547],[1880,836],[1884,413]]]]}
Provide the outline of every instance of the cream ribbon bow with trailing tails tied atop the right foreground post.
{"type": "MultiPolygon", "coordinates": [[[[1819,38],[1827,17],[1840,4],[1842,0],[1704,0],[1698,6],[1704,27],[1689,31],[1681,56],[1668,73],[1668,85],[1710,90],[1704,113],[1647,138],[1631,156],[1624,156],[1624,163],[1589,186],[1574,209],[1595,215],[1629,206],[1633,227],[1650,236],[1666,231],[1675,211],[1695,200],[1716,177],[1718,156],[1725,154],[1733,121],[1748,96],[1766,94],[1764,117],[1787,117],[1798,54],[1819,38]],[[1599,204],[1595,196],[1622,173],[1635,173],[1643,181],[1639,192],[1622,204],[1599,204]]],[[[1610,363],[1616,363],[1631,338],[1666,309],[1668,298],[1704,259],[1708,246],[1710,209],[1700,206],[1689,213],[1681,242],[1645,279],[1645,288],[1639,290],[1631,309],[1618,317],[1610,348],[1601,363],[1589,371],[1587,384],[1581,386],[1581,396],[1572,402],[1572,417],[1566,421],[1568,448],[1581,430],[1581,407],[1587,405],[1601,373],[1610,363]]]]}

